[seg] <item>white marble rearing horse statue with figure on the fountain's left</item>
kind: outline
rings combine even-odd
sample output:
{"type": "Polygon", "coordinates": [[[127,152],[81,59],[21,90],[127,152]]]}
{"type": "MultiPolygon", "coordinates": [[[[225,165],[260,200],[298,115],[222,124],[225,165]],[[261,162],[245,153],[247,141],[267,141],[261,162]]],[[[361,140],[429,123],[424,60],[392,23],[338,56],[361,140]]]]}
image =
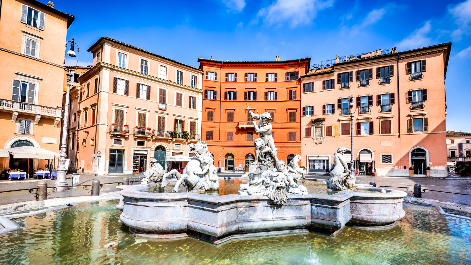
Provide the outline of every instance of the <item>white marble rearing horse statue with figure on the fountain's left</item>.
{"type": "Polygon", "coordinates": [[[186,191],[201,191],[201,190],[219,190],[219,177],[216,174],[214,166],[214,158],[208,151],[208,145],[204,141],[192,143],[189,146],[190,153],[195,156],[188,161],[187,166],[183,169],[182,174],[178,170],[173,169],[162,177],[162,188],[165,187],[169,181],[167,177],[171,174],[177,176],[177,182],[173,188],[173,192],[179,192],[180,185],[186,187],[186,191]]]}

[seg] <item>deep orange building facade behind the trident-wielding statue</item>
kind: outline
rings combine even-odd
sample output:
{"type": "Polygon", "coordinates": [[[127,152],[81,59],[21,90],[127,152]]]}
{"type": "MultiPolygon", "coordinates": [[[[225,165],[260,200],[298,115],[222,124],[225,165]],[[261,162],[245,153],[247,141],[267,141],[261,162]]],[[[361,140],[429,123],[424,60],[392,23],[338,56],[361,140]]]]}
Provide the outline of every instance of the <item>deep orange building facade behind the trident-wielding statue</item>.
{"type": "Polygon", "coordinates": [[[198,62],[204,71],[202,140],[221,172],[247,171],[254,160],[253,140],[259,136],[247,105],[254,114],[270,113],[278,159],[289,162],[300,154],[300,76],[308,72],[310,58],[198,62]]]}

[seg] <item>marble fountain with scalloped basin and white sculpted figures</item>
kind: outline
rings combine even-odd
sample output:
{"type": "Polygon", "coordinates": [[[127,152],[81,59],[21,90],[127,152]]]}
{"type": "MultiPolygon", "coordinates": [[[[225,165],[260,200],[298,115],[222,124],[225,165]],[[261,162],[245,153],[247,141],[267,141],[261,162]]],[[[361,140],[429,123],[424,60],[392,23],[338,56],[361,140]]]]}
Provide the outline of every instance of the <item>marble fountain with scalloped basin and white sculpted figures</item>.
{"type": "Polygon", "coordinates": [[[300,179],[306,173],[298,166],[296,155],[286,166],[276,157],[271,136],[269,113],[253,114],[255,162],[249,167],[249,182],[241,184],[237,194],[211,196],[200,194],[219,189],[219,177],[207,144],[189,145],[195,156],[182,174],[171,171],[161,178],[148,178],[143,185],[119,186],[121,221],[129,231],[144,238],[175,239],[193,237],[213,244],[227,240],[266,235],[320,232],[335,236],[345,224],[387,228],[404,217],[402,197],[405,192],[356,184],[341,156],[334,155],[329,188],[334,194],[308,193],[300,179]],[[175,193],[144,192],[175,174],[175,193]],[[150,181],[154,180],[154,181],[150,181]],[[184,193],[178,193],[179,187],[184,193]],[[356,191],[354,190],[356,189],[356,191]]]}

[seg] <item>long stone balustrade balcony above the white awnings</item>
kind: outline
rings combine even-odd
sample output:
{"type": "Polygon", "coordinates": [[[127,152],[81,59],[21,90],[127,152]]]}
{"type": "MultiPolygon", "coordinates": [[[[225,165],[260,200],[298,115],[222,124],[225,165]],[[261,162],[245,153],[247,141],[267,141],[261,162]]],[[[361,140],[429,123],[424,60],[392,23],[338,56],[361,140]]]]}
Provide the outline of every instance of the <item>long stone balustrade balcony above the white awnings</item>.
{"type": "Polygon", "coordinates": [[[53,118],[55,119],[54,127],[57,127],[57,124],[59,124],[62,117],[61,108],[46,107],[8,99],[0,99],[0,110],[11,112],[12,122],[16,122],[18,114],[35,116],[34,124],[38,124],[41,117],[53,118]]]}

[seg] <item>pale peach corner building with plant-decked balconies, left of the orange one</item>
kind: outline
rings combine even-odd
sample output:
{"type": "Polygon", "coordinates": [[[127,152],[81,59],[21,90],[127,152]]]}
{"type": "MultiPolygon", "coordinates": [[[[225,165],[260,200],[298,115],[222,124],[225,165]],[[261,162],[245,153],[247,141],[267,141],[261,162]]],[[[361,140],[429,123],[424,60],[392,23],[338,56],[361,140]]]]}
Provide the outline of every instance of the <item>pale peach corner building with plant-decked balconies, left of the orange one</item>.
{"type": "Polygon", "coordinates": [[[200,140],[203,71],[106,37],[88,51],[93,67],[77,79],[71,113],[78,171],[142,173],[152,158],[182,166],[166,161],[200,140]]]}

